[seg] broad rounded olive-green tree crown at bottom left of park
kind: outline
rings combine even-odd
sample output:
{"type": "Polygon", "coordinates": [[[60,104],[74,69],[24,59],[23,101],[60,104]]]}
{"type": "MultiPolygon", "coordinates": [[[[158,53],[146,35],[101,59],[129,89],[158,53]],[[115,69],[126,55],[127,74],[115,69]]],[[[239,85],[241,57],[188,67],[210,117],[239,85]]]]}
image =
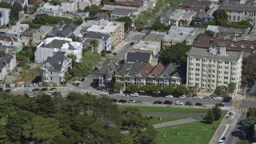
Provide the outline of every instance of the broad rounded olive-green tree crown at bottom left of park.
{"type": "Polygon", "coordinates": [[[62,134],[59,122],[54,118],[42,118],[37,116],[32,121],[22,125],[22,135],[32,138],[35,142],[51,143],[53,139],[62,134]]]}

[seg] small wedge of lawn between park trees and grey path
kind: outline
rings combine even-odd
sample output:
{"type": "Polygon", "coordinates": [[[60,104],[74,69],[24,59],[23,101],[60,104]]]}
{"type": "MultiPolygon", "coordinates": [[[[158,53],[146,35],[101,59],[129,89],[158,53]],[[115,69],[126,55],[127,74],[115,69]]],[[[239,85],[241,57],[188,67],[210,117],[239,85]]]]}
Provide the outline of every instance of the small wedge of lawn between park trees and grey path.
{"type": "MultiPolygon", "coordinates": [[[[146,116],[147,117],[147,116],[146,116]]],[[[154,125],[156,123],[161,123],[161,122],[169,122],[169,121],[175,121],[183,118],[188,118],[188,117],[182,117],[182,116],[172,116],[172,115],[153,115],[153,120],[150,120],[150,124],[154,125]],[[162,118],[162,120],[159,120],[159,117],[162,118]]]]}

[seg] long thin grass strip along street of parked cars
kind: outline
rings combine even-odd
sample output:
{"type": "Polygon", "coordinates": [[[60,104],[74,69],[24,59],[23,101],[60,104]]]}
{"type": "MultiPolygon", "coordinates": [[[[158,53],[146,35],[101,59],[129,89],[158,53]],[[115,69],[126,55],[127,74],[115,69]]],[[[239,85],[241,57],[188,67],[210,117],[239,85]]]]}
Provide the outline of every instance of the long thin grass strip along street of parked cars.
{"type": "Polygon", "coordinates": [[[142,112],[166,112],[166,113],[194,113],[194,114],[206,114],[207,109],[196,108],[182,108],[182,107],[156,107],[156,106],[125,106],[119,105],[120,109],[126,107],[134,107],[142,112]]]}

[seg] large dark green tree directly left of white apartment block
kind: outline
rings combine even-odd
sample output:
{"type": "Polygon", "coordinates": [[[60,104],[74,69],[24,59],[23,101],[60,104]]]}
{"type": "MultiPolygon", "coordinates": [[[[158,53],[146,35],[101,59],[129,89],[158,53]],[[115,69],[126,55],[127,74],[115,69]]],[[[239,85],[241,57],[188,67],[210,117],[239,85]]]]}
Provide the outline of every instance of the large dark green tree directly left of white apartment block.
{"type": "Polygon", "coordinates": [[[180,65],[186,63],[186,52],[190,50],[191,46],[185,45],[184,43],[178,43],[177,45],[166,47],[160,51],[162,62],[165,65],[170,62],[180,65]]]}

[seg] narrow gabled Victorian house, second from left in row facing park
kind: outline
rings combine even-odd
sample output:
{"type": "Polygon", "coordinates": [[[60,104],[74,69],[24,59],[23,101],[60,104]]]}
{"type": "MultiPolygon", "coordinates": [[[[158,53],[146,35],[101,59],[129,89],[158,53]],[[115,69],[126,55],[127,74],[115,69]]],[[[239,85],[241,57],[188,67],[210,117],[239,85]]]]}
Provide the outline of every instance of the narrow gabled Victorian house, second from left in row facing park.
{"type": "Polygon", "coordinates": [[[125,82],[124,75],[128,73],[128,71],[130,70],[130,67],[133,65],[134,63],[125,62],[124,64],[119,66],[116,74],[114,74],[115,82],[118,82],[124,85],[124,82],[125,82]]]}

